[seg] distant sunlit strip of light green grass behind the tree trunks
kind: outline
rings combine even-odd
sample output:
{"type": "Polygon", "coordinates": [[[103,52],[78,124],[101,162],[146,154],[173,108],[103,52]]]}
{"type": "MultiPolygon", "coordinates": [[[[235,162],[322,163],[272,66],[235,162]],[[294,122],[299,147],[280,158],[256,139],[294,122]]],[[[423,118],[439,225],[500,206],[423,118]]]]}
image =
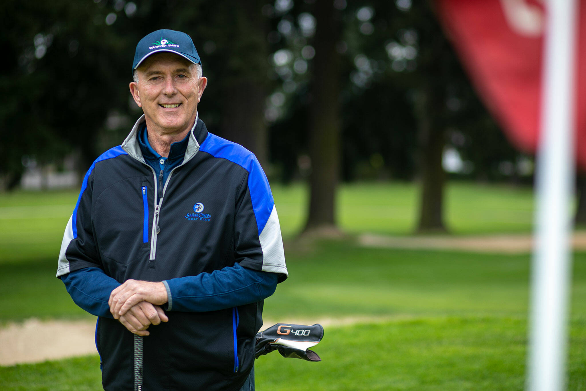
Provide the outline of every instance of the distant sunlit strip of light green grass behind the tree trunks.
{"type": "MultiPolygon", "coordinates": [[[[272,185],[285,239],[306,218],[306,187],[272,185]]],[[[57,257],[78,191],[0,193],[0,263],[57,257]]],[[[340,187],[340,227],[350,233],[406,235],[417,221],[413,183],[360,183],[340,187]]],[[[530,232],[533,194],[528,188],[450,183],[446,222],[454,234],[530,232]]]]}

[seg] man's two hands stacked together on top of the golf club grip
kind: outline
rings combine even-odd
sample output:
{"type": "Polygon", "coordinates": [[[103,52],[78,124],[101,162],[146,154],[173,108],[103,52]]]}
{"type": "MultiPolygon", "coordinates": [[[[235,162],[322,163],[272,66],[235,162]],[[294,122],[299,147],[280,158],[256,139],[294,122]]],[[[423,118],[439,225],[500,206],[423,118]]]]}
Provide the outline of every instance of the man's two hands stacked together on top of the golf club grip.
{"type": "Polygon", "coordinates": [[[159,305],[168,301],[163,283],[127,280],[110,294],[108,305],[114,319],[120,320],[129,331],[149,335],[147,328],[169,321],[159,305]]]}

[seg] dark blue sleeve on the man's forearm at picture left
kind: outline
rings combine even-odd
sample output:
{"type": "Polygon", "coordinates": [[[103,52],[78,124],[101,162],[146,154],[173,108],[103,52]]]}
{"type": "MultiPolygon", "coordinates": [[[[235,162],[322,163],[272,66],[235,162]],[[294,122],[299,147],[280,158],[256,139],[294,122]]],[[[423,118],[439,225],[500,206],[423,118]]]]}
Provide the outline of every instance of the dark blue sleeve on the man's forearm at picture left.
{"type": "Polygon", "coordinates": [[[113,318],[108,299],[121,284],[98,267],[84,267],[61,276],[75,304],[97,317],[113,318]]]}

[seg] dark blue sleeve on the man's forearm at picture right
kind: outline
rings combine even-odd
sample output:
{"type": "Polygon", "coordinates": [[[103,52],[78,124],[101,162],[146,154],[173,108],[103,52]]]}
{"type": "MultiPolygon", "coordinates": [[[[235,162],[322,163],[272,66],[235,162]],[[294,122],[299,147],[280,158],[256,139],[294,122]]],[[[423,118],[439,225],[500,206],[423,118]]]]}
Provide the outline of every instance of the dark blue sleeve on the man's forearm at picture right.
{"type": "Polygon", "coordinates": [[[277,273],[234,266],[163,281],[169,311],[205,312],[264,300],[277,288],[277,273]]]}

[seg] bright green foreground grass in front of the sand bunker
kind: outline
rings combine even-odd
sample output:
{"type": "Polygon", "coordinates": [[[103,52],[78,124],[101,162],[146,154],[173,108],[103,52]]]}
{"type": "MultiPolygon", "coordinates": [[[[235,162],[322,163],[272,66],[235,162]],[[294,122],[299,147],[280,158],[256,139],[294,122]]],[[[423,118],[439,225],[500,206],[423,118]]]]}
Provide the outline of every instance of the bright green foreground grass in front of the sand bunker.
{"type": "MultiPolygon", "coordinates": [[[[586,327],[573,322],[568,390],[586,386],[586,327]]],[[[526,322],[438,317],[326,328],[314,350],[322,362],[255,363],[258,390],[522,390],[526,322]]],[[[0,367],[3,390],[100,390],[97,355],[0,367]]]]}

